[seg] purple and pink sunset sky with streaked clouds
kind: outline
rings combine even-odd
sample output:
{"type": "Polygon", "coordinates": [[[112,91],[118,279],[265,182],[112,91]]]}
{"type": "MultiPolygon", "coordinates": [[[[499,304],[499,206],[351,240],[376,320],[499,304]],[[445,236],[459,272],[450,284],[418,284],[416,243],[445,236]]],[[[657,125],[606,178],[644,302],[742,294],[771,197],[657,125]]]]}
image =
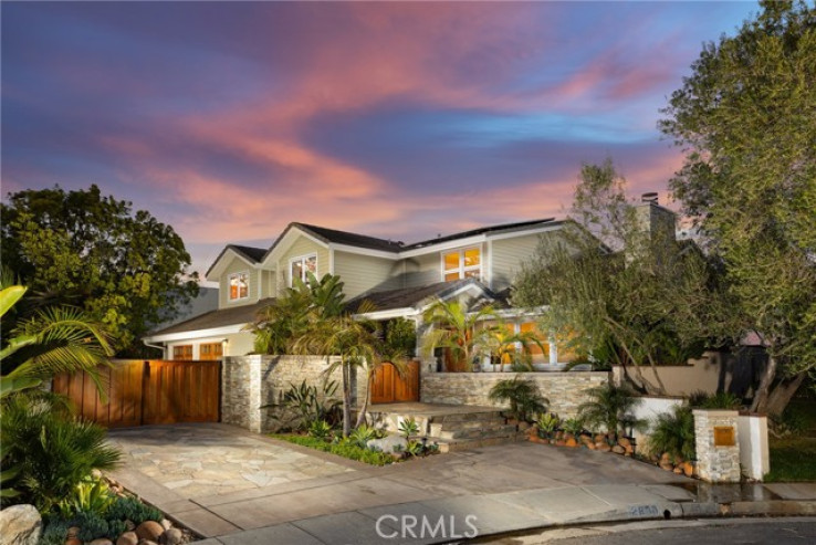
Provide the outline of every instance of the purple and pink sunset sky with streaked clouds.
{"type": "Polygon", "coordinates": [[[290,221],[417,241],[632,192],[701,44],[756,2],[2,3],[2,192],[91,184],[203,271],[290,221]]]}

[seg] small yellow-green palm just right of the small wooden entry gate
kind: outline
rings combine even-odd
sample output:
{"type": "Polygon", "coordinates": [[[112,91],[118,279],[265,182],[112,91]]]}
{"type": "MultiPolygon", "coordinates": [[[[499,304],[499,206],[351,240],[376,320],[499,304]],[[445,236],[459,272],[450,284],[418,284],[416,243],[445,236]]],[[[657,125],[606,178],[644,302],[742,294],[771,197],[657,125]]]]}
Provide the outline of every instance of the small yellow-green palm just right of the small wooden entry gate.
{"type": "Polygon", "coordinates": [[[452,358],[449,370],[465,370],[477,356],[489,350],[499,327],[482,323],[495,318],[490,305],[469,313],[459,301],[437,300],[422,314],[425,323],[433,326],[422,348],[428,355],[435,348],[446,348],[452,358]]]}

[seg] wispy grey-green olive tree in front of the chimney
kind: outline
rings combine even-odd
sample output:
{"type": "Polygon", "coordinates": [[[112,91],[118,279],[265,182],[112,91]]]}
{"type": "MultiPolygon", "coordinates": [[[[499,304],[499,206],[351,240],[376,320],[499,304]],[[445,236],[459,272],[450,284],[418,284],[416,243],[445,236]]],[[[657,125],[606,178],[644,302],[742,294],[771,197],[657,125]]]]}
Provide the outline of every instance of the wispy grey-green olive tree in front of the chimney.
{"type": "Polygon", "coordinates": [[[671,212],[627,198],[609,160],[584,165],[569,219],[524,264],[513,303],[547,306],[544,329],[596,361],[623,365],[639,389],[666,394],[660,364],[729,336],[716,270],[693,243],[674,239],[671,212]]]}

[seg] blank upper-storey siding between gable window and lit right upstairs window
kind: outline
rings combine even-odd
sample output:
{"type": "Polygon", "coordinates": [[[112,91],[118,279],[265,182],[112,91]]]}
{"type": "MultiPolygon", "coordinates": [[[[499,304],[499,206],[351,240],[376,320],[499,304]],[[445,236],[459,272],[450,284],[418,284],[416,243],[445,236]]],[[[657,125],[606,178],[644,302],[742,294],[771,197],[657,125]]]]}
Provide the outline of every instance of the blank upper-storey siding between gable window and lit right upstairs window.
{"type": "Polygon", "coordinates": [[[343,280],[346,298],[356,297],[372,290],[380,292],[400,287],[398,273],[401,270],[399,261],[351,252],[334,252],[334,273],[343,280]]]}

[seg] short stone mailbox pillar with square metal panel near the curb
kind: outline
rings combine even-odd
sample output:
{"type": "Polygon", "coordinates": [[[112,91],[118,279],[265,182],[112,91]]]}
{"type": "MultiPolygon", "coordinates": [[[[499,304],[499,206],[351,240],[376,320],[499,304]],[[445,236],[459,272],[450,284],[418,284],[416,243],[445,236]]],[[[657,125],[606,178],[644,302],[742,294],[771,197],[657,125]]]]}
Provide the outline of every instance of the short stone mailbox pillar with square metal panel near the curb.
{"type": "Polygon", "coordinates": [[[694,409],[697,470],[714,483],[740,482],[740,438],[735,410],[694,409]]]}

